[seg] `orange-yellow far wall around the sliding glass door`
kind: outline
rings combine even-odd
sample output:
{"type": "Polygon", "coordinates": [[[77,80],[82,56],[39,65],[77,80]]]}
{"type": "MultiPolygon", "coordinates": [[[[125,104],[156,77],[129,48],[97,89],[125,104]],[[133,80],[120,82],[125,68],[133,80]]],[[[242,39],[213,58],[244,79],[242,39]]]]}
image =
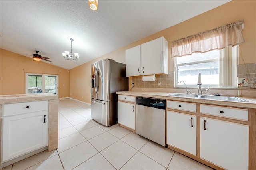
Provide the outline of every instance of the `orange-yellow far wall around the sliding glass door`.
{"type": "Polygon", "coordinates": [[[0,95],[25,93],[25,73],[42,73],[59,75],[59,97],[69,97],[68,70],[4,49],[0,55],[0,95]]]}

